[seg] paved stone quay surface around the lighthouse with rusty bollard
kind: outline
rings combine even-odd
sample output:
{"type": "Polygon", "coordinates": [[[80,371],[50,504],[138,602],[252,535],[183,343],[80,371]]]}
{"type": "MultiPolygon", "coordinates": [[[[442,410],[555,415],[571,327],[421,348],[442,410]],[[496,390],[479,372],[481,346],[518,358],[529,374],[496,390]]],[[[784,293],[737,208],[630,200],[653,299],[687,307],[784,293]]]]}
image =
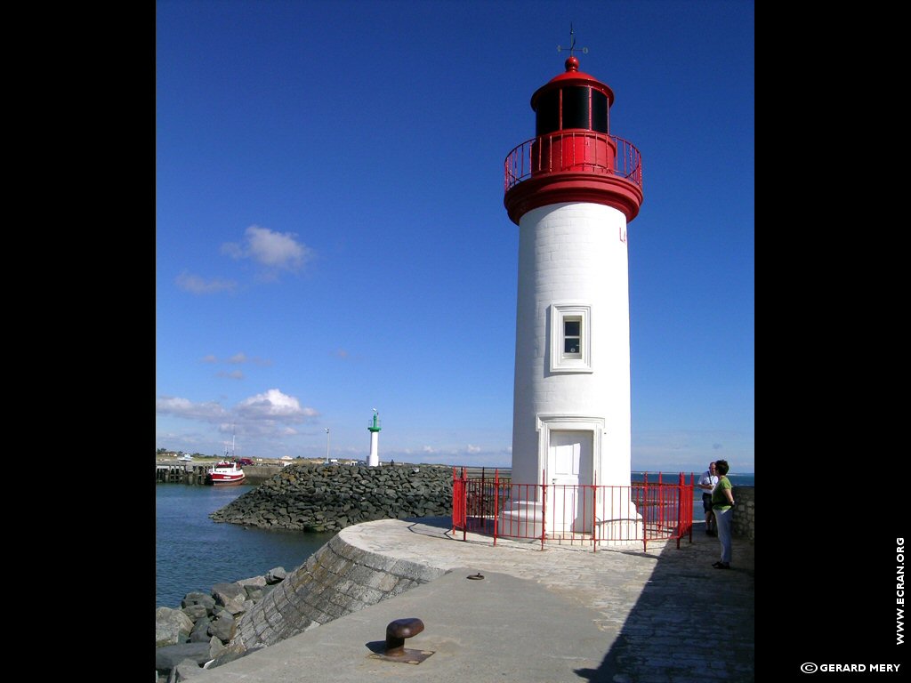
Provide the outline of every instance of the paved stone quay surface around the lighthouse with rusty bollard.
{"type": "MultiPolygon", "coordinates": [[[[715,569],[717,538],[599,548],[527,544],[462,533],[449,520],[380,520],[346,542],[451,571],[219,668],[200,683],[729,683],[754,680],[754,546],[733,542],[732,569],[715,569]],[[477,575],[483,578],[469,578],[477,575]],[[431,652],[387,661],[385,627],[417,617],[405,640],[431,652]]],[[[413,653],[414,654],[414,653],[413,653]]],[[[196,679],[197,677],[193,677],[196,679]]]]}

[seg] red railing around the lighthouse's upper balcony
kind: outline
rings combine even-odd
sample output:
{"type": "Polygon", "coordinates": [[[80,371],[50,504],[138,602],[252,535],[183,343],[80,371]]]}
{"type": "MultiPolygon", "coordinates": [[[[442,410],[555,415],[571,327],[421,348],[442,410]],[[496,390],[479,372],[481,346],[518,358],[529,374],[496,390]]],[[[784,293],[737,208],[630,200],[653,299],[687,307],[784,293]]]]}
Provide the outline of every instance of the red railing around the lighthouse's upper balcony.
{"type": "Polygon", "coordinates": [[[603,173],[642,187],[642,158],[623,138],[590,130],[559,131],[526,140],[507,155],[504,191],[539,174],[603,173]]]}

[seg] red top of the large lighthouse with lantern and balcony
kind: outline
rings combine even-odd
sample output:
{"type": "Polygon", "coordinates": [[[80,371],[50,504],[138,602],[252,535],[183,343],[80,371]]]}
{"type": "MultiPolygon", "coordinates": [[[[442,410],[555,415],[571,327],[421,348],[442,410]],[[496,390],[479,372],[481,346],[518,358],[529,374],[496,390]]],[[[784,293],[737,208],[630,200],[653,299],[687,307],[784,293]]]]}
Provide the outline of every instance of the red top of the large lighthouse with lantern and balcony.
{"type": "Polygon", "coordinates": [[[629,222],[642,203],[639,150],[610,135],[613,91],[579,71],[577,57],[565,66],[531,96],[536,137],[506,158],[509,219],[518,225],[531,209],[582,201],[619,209],[629,222]]]}

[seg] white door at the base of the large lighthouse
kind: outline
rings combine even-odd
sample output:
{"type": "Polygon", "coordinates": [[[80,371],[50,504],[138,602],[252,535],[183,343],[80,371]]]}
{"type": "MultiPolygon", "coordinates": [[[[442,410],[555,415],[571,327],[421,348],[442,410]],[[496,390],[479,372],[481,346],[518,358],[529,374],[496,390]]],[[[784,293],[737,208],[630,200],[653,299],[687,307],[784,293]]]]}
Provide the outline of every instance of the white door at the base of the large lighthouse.
{"type": "Polygon", "coordinates": [[[550,430],[547,484],[548,526],[555,532],[590,531],[591,520],[584,514],[585,502],[579,484],[594,483],[594,433],[578,430],[550,430]]]}

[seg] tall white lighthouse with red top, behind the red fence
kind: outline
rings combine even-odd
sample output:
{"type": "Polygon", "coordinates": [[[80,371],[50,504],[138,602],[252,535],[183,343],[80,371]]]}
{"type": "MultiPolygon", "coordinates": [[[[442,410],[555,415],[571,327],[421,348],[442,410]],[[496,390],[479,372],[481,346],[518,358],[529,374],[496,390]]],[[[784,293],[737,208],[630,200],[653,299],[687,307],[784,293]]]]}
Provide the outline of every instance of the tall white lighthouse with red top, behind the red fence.
{"type": "MultiPolygon", "coordinates": [[[[611,89],[571,49],[564,66],[531,97],[535,137],[505,161],[503,203],[519,231],[512,481],[548,484],[548,531],[591,533],[637,516],[627,493],[599,502],[596,519],[573,487],[630,486],[627,226],[642,167],[610,133],[611,89]]],[[[540,518],[541,501],[517,505],[540,518]]]]}

